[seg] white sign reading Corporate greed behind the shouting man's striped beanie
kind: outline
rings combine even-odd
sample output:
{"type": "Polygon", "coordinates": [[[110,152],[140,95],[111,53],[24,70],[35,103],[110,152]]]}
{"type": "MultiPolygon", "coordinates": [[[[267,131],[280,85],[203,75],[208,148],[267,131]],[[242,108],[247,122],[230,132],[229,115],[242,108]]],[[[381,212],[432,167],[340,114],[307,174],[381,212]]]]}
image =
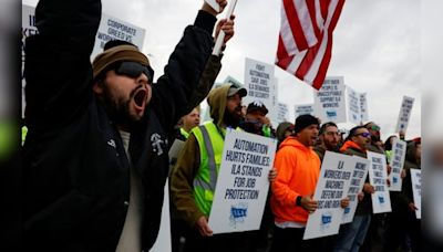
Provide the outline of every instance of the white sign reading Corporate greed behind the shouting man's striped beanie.
{"type": "Polygon", "coordinates": [[[135,27],[117,18],[102,13],[99,31],[95,35],[95,44],[92,50],[93,60],[99,53],[103,52],[104,44],[110,40],[123,40],[135,44],[140,51],[143,49],[145,30],[135,27]]]}

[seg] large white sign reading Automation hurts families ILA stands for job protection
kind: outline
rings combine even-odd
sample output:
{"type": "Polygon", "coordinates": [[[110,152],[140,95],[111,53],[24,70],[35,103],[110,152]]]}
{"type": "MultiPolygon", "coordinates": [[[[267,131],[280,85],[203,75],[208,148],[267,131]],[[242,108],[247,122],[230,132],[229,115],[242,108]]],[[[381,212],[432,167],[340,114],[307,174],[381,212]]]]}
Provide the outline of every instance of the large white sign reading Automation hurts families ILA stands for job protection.
{"type": "Polygon", "coordinates": [[[277,141],[245,132],[228,129],[209,228],[216,233],[258,230],[269,189],[277,141]]]}

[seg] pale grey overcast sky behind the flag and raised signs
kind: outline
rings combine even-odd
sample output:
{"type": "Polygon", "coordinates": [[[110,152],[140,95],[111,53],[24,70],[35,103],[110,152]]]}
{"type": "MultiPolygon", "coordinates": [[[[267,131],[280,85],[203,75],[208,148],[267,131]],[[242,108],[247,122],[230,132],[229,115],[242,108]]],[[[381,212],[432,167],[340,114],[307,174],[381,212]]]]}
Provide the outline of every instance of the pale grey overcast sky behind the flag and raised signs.
{"type": "MultiPolygon", "coordinates": [[[[192,23],[202,0],[103,0],[103,11],[144,28],[143,51],[152,54],[156,77],[192,23]]],[[[35,0],[23,0],[35,6],[35,0]]],[[[406,138],[421,135],[420,1],[348,0],[333,33],[329,76],[368,93],[369,117],[383,138],[395,128],[403,95],[415,98],[406,138]]],[[[217,78],[227,75],[244,82],[245,57],[274,64],[280,27],[280,0],[238,0],[236,35],[229,41],[217,78]]],[[[222,13],[219,18],[224,18],[222,13]]],[[[279,101],[289,105],[312,103],[312,88],[276,67],[279,101]]]]}

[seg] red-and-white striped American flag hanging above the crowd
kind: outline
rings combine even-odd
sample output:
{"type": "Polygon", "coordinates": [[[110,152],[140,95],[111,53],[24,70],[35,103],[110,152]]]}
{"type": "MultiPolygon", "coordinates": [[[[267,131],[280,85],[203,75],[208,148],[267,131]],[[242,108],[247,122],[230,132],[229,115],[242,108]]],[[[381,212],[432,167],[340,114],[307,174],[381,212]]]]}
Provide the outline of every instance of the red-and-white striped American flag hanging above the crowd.
{"type": "Polygon", "coordinates": [[[276,64],[320,90],[343,4],[344,0],[282,0],[276,64]]]}

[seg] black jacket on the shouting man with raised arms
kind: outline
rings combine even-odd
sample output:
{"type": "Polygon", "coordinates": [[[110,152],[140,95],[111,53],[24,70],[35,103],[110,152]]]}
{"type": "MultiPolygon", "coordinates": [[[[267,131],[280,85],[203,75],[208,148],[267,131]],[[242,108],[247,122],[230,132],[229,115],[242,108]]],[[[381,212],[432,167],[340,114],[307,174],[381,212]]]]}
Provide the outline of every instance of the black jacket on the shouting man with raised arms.
{"type": "MultiPolygon", "coordinates": [[[[115,251],[127,211],[130,166],[115,126],[92,93],[90,54],[100,0],[40,0],[39,34],[27,40],[23,222],[27,249],[115,251]]],[[[150,17],[151,18],[151,17],[150,17]]],[[[200,11],[153,85],[130,153],[144,186],[143,249],[154,243],[173,126],[213,46],[216,19],[200,11]]]]}

